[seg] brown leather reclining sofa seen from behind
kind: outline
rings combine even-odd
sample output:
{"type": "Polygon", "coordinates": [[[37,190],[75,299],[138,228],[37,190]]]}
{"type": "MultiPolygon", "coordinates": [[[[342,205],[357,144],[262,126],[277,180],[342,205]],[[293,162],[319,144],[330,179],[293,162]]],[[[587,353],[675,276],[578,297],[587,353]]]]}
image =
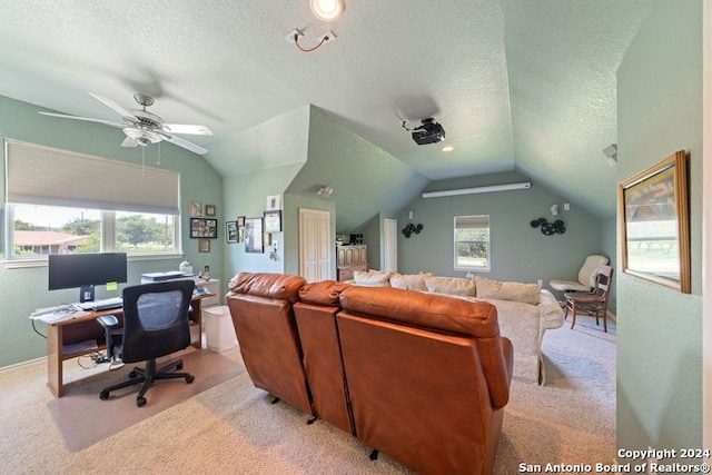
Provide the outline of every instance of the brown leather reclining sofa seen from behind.
{"type": "Polygon", "coordinates": [[[493,305],[276,274],[230,288],[255,386],[419,473],[492,472],[513,350],[493,305]]]}

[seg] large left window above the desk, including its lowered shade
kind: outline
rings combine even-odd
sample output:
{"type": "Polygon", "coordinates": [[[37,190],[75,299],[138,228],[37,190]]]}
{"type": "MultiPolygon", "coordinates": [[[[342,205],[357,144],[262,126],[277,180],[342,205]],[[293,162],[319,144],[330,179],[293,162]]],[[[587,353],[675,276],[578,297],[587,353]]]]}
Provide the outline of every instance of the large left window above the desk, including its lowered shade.
{"type": "Polygon", "coordinates": [[[12,140],[6,165],[9,259],[180,251],[176,172],[12,140]]]}

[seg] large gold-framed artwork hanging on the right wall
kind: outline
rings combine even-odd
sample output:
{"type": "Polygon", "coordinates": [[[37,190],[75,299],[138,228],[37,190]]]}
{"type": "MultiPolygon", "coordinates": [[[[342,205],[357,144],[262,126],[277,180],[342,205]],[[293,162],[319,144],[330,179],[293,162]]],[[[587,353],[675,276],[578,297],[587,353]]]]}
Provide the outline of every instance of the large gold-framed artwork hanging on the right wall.
{"type": "Polygon", "coordinates": [[[622,269],[690,294],[688,165],[680,150],[619,187],[622,269]]]}

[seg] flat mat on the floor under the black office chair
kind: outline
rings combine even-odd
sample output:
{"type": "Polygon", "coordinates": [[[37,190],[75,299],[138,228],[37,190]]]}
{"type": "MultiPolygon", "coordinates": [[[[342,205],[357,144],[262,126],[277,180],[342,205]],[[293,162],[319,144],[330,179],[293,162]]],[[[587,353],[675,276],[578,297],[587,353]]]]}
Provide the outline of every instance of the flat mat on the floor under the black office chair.
{"type": "Polygon", "coordinates": [[[191,384],[187,384],[185,379],[157,380],[146,393],[148,403],[144,407],[136,406],[136,395],[140,385],[116,390],[107,400],[99,398],[99,392],[105,387],[128,379],[129,372],[136,365],[125,365],[120,369],[99,373],[67,385],[63,397],[47,404],[67,449],[77,452],[87,448],[245,373],[244,365],[208,349],[188,350],[178,356],[164,358],[159,360],[158,366],[178,358],[184,362],[181,370],[192,374],[195,380],[191,384]]]}

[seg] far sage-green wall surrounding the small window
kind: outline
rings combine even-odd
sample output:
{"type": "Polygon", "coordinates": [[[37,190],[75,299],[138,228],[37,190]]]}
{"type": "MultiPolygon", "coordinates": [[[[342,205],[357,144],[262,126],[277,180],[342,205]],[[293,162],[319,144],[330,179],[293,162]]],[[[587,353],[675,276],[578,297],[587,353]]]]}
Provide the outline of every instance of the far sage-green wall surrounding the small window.
{"type": "MultiPolygon", "coordinates": [[[[517,172],[493,174],[432,182],[425,190],[438,191],[479,186],[531,181],[517,172]]],[[[402,273],[435,273],[464,277],[454,270],[455,216],[490,215],[492,271],[484,277],[497,280],[536,283],[544,287],[554,278],[576,278],[584,258],[604,253],[599,218],[572,205],[563,210],[565,200],[532,181],[524,190],[462,195],[443,198],[417,198],[398,216],[398,228],[408,222],[422,224],[421,234],[406,238],[398,235],[398,270],[402,273]],[[558,205],[560,214],[552,216],[550,207],[558,205]],[[566,232],[545,236],[530,222],[540,217],[550,222],[561,219],[566,232]]]]}

